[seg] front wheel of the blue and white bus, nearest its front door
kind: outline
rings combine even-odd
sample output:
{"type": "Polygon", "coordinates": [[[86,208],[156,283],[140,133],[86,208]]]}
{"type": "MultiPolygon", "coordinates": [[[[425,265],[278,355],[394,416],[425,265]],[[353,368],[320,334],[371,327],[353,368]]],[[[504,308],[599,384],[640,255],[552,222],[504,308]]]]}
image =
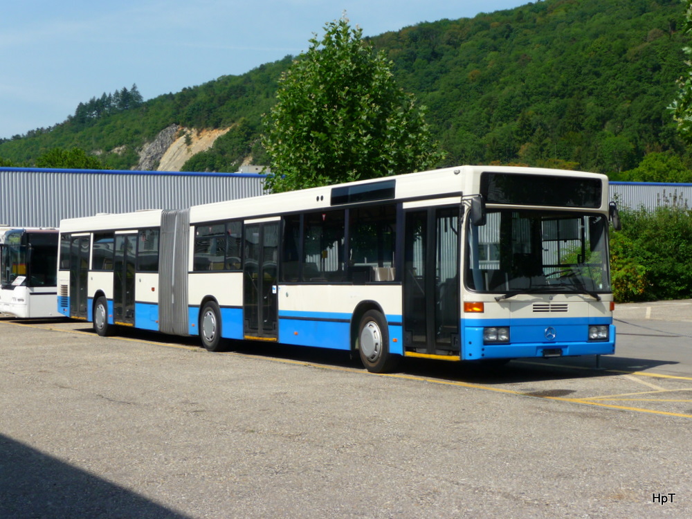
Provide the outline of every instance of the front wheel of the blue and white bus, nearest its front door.
{"type": "Polygon", "coordinates": [[[389,331],[384,316],[368,310],[358,327],[358,353],[365,369],[371,373],[388,373],[396,369],[401,356],[389,352],[389,331]]]}

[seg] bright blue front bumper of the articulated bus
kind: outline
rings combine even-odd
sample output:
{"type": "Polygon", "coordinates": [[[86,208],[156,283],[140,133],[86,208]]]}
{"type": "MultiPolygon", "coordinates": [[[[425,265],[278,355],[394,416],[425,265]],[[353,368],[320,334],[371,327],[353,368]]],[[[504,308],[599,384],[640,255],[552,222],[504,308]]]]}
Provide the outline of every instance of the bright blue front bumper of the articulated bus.
{"type": "MultiPolygon", "coordinates": [[[[585,338],[587,331],[583,332],[583,327],[563,327],[558,331],[558,336],[563,340],[543,340],[536,342],[518,342],[516,337],[536,336],[537,332],[520,330],[522,327],[510,327],[509,344],[483,344],[483,328],[464,327],[462,344],[462,361],[475,361],[482,358],[526,358],[549,356],[578,356],[578,355],[610,355],[615,352],[615,327],[610,326],[610,340],[601,342],[590,342],[580,340],[585,338]],[[570,337],[567,331],[574,332],[570,337]],[[576,340],[570,340],[574,338],[576,340]]],[[[541,328],[541,334],[545,331],[545,326],[541,328]]]]}

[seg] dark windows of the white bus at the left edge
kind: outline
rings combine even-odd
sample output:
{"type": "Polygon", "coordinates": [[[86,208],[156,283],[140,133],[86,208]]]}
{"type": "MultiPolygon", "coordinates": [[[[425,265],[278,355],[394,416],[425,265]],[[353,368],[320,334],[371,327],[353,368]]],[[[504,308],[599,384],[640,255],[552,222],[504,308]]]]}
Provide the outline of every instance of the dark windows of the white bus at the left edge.
{"type": "Polygon", "coordinates": [[[0,258],[0,285],[55,286],[57,234],[10,231],[0,258]]]}

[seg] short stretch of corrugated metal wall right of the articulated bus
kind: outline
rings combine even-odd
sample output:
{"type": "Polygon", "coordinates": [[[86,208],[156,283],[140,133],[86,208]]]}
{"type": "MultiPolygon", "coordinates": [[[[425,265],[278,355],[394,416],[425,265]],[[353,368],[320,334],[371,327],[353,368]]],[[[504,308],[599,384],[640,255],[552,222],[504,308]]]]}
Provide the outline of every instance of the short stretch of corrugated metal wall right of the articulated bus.
{"type": "Polygon", "coordinates": [[[611,182],[610,199],[619,207],[653,210],[659,206],[689,209],[692,184],[611,182]]]}

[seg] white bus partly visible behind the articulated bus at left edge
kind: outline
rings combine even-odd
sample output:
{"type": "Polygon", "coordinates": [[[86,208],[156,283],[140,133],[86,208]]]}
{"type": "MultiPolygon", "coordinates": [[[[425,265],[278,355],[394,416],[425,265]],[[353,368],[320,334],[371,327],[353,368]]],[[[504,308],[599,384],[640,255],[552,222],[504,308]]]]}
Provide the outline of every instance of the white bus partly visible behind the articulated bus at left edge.
{"type": "Polygon", "coordinates": [[[0,313],[21,318],[55,317],[55,228],[0,227],[0,313]]]}

